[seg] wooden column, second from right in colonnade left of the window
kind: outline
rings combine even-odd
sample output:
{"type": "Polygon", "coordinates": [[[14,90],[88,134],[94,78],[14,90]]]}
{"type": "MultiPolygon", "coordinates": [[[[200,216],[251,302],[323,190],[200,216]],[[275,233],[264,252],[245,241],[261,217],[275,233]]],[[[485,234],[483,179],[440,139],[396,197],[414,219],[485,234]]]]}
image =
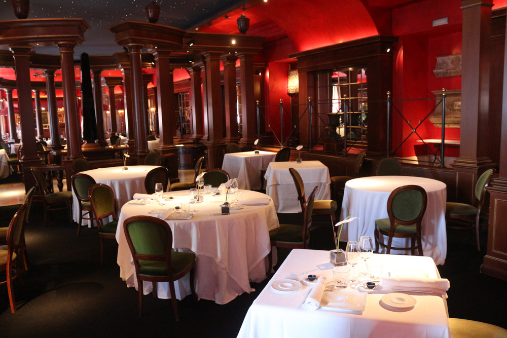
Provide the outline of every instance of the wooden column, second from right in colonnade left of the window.
{"type": "MultiPolygon", "coordinates": [[[[236,60],[238,57],[234,54],[227,54],[221,57],[224,64],[224,92],[225,92],[225,121],[226,138],[225,142],[238,142],[238,110],[236,107],[236,60]]],[[[252,72],[253,81],[253,72],[252,72]]],[[[253,92],[253,82],[252,82],[253,92]]]]}

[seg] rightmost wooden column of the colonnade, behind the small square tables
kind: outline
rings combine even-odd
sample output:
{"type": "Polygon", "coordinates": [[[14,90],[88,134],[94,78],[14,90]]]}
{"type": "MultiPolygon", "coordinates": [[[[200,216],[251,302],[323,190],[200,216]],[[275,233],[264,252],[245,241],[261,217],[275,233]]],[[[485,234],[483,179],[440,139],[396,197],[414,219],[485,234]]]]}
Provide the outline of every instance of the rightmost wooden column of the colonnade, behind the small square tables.
{"type": "Polygon", "coordinates": [[[239,143],[246,149],[250,148],[257,138],[257,110],[253,87],[253,56],[251,53],[238,54],[241,79],[241,123],[243,135],[239,143]]]}

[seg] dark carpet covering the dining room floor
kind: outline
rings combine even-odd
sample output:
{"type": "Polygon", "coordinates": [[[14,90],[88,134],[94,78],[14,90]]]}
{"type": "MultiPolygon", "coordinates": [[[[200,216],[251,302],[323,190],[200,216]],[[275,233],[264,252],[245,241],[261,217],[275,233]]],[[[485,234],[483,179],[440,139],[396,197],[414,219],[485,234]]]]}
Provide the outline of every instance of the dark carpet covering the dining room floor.
{"type": "MultiPolygon", "coordinates": [[[[1,227],[8,226],[17,207],[0,207],[1,227]]],[[[24,287],[15,283],[15,314],[9,308],[7,286],[0,286],[2,337],[235,337],[249,306],[267,284],[252,283],[255,292],[226,305],[186,297],[178,302],[179,322],[173,319],[168,299],[145,295],[143,315],[138,318],[137,292],[119,277],[116,242],[105,241],[104,266],[100,267],[96,229],[83,228],[78,238],[77,224],[70,223],[64,212],[55,214],[45,228],[41,206],[32,208],[26,228],[29,270],[22,275],[24,287]]],[[[486,237],[483,233],[484,249],[486,237]]],[[[479,273],[485,252],[477,252],[472,233],[449,230],[448,239],[446,264],[439,271],[451,281],[449,315],[507,328],[507,282],[479,273]]],[[[312,231],[312,248],[332,246],[330,226],[312,231]]],[[[282,250],[279,260],[287,254],[282,250]]],[[[0,280],[5,280],[5,272],[0,280]]]]}

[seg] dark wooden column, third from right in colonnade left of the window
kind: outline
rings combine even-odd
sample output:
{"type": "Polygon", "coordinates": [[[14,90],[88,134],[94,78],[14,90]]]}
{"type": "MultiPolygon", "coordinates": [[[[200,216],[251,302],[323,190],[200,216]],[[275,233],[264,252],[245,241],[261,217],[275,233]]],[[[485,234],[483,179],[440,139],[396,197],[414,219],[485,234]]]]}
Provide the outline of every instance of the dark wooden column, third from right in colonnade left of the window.
{"type": "Polygon", "coordinates": [[[220,86],[220,54],[216,52],[206,52],[203,54],[206,62],[207,133],[209,136],[209,140],[206,142],[208,151],[206,168],[220,168],[224,159],[225,143],[223,142],[224,131],[222,127],[223,106],[222,88],[220,86]]]}

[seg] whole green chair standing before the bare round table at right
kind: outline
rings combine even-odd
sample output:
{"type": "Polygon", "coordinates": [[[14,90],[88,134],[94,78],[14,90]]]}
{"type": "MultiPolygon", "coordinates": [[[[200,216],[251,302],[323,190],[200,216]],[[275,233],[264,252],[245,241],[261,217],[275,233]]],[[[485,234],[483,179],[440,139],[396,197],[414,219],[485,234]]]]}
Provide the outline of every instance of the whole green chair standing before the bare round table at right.
{"type": "Polygon", "coordinates": [[[394,250],[419,250],[422,256],[421,221],[426,211],[426,191],[419,185],[404,185],[394,189],[387,199],[387,214],[389,218],[375,220],[375,252],[379,252],[379,245],[387,249],[389,254],[394,250]],[[380,242],[379,235],[387,236],[387,244],[380,242]],[[410,238],[409,247],[393,247],[393,238],[410,238]],[[417,243],[416,243],[417,242],[417,243]]]}

